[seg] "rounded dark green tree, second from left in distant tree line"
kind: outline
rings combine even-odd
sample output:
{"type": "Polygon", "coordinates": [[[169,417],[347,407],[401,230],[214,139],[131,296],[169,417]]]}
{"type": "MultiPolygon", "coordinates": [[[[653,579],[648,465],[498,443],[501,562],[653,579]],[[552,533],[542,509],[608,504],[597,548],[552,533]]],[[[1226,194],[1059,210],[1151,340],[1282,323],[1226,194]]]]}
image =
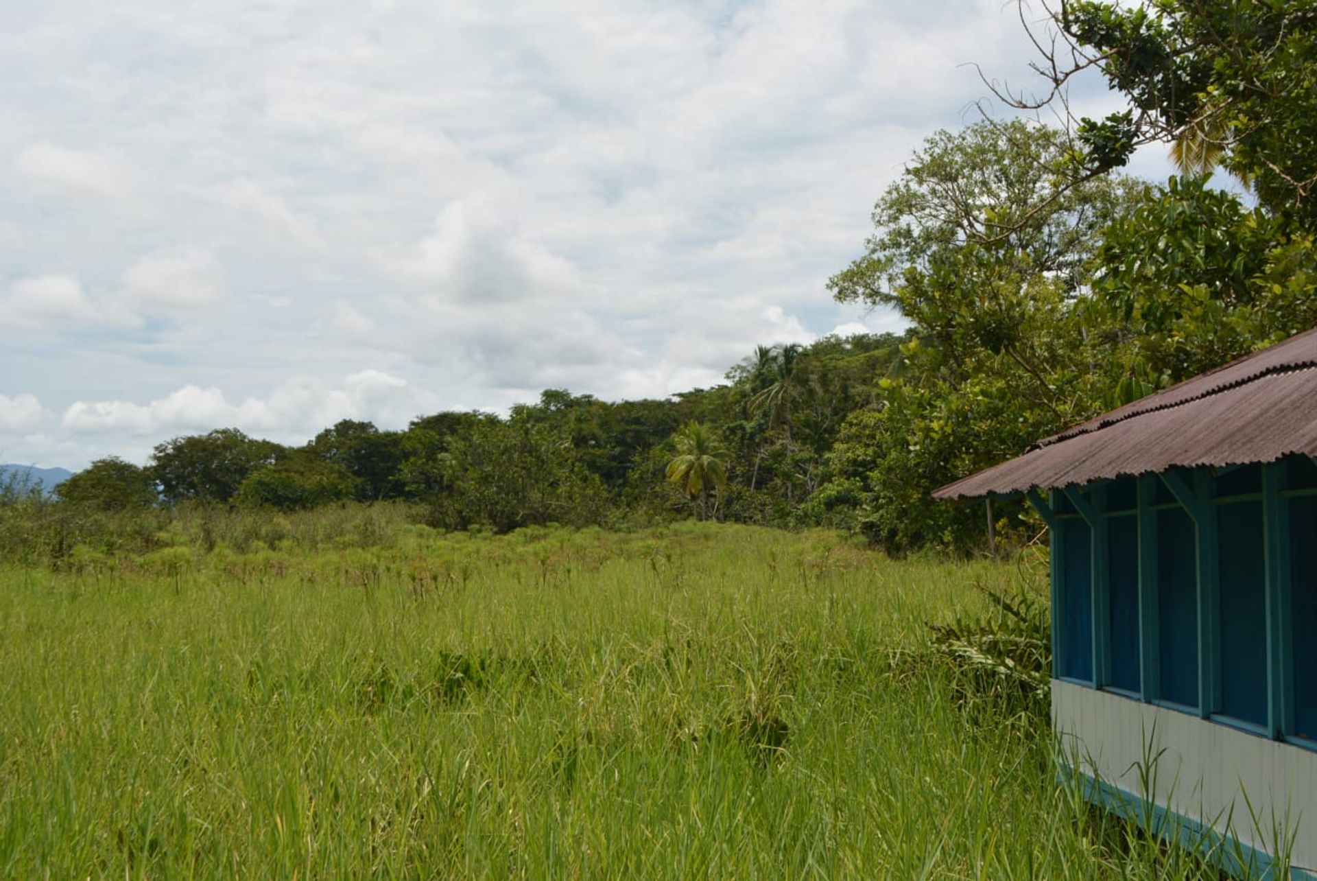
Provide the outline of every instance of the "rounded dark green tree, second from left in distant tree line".
{"type": "Polygon", "coordinates": [[[155,446],[150,470],[169,503],[228,502],[248,475],[273,465],[283,448],[236,428],[175,437],[155,446]]]}

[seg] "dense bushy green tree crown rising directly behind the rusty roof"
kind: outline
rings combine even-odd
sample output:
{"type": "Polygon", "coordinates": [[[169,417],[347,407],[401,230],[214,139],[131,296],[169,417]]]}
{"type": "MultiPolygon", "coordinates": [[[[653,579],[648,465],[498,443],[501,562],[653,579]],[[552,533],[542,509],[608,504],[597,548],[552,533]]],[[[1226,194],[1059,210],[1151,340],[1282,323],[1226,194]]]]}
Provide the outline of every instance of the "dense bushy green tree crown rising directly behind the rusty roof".
{"type": "Polygon", "coordinates": [[[1121,366],[1118,406],[1317,325],[1310,232],[1172,178],[1104,230],[1089,336],[1121,366]]]}

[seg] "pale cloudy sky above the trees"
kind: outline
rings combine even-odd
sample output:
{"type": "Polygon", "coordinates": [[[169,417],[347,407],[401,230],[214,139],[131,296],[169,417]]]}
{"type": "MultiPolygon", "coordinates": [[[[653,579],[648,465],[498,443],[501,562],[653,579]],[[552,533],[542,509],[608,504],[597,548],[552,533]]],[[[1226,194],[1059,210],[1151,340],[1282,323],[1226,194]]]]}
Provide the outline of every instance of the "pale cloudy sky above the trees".
{"type": "Polygon", "coordinates": [[[898,329],[827,278],[980,119],[973,65],[1030,53],[1004,0],[3,4],[0,461],[665,396],[898,329]]]}

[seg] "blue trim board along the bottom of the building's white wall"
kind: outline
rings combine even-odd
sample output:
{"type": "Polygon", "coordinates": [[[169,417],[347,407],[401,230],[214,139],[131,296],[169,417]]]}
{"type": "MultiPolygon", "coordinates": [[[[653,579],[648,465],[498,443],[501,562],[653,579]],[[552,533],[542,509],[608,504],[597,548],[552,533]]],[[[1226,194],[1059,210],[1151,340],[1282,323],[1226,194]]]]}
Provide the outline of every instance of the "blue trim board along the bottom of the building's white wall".
{"type": "MultiPolygon", "coordinates": [[[[1058,764],[1056,777],[1063,786],[1077,778],[1087,802],[1142,827],[1169,844],[1198,853],[1226,874],[1250,881],[1279,881],[1275,860],[1266,851],[1245,844],[1234,836],[1222,835],[1210,826],[1167,810],[1147,798],[1139,798],[1119,786],[1075,772],[1064,762],[1058,764]]],[[[1317,874],[1296,867],[1291,867],[1285,877],[1289,881],[1317,881],[1317,874]]]]}

